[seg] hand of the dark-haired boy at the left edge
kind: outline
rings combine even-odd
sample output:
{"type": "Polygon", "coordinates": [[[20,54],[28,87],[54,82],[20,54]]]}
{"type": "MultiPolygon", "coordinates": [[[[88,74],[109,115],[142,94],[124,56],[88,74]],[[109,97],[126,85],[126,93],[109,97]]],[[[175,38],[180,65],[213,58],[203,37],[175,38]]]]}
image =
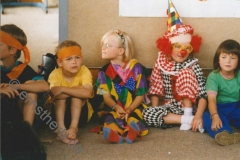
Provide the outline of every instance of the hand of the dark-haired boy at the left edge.
{"type": "Polygon", "coordinates": [[[19,95],[18,90],[10,87],[6,83],[1,83],[0,87],[1,87],[1,89],[0,89],[1,97],[4,95],[7,95],[9,98],[15,98],[16,96],[19,95]]]}

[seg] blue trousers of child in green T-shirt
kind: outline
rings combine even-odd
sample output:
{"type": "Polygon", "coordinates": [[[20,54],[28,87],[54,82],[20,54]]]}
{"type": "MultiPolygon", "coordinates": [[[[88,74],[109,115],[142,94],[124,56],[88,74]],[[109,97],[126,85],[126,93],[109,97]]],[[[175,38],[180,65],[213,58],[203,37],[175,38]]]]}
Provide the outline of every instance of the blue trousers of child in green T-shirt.
{"type": "Polygon", "coordinates": [[[236,128],[240,128],[240,101],[233,103],[217,104],[217,111],[223,125],[223,127],[220,128],[218,131],[213,131],[211,129],[212,120],[210,119],[211,115],[209,111],[206,111],[203,114],[204,129],[212,138],[214,138],[217,133],[222,131],[232,133],[231,125],[236,128]]]}

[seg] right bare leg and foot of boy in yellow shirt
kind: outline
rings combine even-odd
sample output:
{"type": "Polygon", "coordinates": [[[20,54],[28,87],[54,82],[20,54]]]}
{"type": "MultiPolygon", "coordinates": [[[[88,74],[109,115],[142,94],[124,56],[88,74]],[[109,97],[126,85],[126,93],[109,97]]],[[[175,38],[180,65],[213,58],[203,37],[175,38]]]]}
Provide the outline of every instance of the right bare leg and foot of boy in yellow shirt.
{"type": "Polygon", "coordinates": [[[82,111],[84,101],[79,98],[72,98],[71,100],[71,124],[68,131],[68,138],[76,139],[78,132],[78,123],[82,111]]]}

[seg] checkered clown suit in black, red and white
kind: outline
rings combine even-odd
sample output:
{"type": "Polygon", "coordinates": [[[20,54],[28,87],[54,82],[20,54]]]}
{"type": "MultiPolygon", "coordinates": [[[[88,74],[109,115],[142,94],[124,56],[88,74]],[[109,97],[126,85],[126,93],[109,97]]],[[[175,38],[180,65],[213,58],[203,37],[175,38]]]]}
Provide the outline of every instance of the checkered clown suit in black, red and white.
{"type": "MultiPolygon", "coordinates": [[[[184,72],[186,72],[186,76],[181,75],[180,79],[178,81],[183,81],[186,83],[189,79],[187,78],[189,75],[187,74],[195,74],[197,81],[195,80],[194,82],[191,83],[196,83],[196,84],[191,84],[190,82],[184,84],[184,83],[179,83],[179,85],[184,84],[186,86],[194,86],[194,87],[189,87],[193,88],[189,94],[193,94],[192,97],[196,98],[196,104],[193,106],[193,113],[196,112],[197,109],[197,104],[198,100],[200,98],[207,98],[207,93],[205,89],[205,84],[206,84],[206,79],[203,75],[202,69],[200,68],[196,58],[189,57],[186,61],[182,63],[176,63],[176,62],[168,62],[166,58],[163,55],[159,54],[159,59],[155,63],[155,68],[157,67],[159,70],[155,69],[154,72],[154,78],[159,78],[157,80],[162,80],[162,83],[158,83],[157,80],[154,79],[154,83],[152,86],[152,93],[161,93],[163,92],[164,100],[167,102],[164,106],[158,106],[158,107],[148,107],[144,109],[143,111],[143,118],[146,121],[147,125],[149,126],[154,126],[154,127],[160,127],[161,124],[163,123],[163,116],[167,115],[168,112],[174,113],[174,114],[183,114],[183,104],[181,101],[176,100],[174,97],[174,93],[172,91],[173,84],[176,84],[176,81],[173,81],[173,76],[178,76],[178,73],[182,71],[182,69],[186,69],[184,72]],[[162,56],[162,59],[160,58],[162,56]],[[169,65],[167,65],[169,64],[169,65]],[[188,70],[189,69],[189,70],[188,70]],[[157,73],[159,71],[159,73],[157,73]],[[160,77],[162,76],[162,77],[160,77]],[[157,83],[156,83],[157,82],[157,83]],[[161,87],[163,85],[163,88],[161,87]],[[161,89],[164,89],[161,91],[161,89]],[[195,91],[194,89],[198,90],[195,91]],[[160,92],[161,91],[161,92],[160,92]]],[[[185,86],[183,86],[185,87],[185,86]]],[[[181,88],[181,87],[180,87],[181,88]]],[[[187,87],[185,87],[187,88],[187,87]]],[[[151,92],[150,92],[151,93],[151,92]]]]}

